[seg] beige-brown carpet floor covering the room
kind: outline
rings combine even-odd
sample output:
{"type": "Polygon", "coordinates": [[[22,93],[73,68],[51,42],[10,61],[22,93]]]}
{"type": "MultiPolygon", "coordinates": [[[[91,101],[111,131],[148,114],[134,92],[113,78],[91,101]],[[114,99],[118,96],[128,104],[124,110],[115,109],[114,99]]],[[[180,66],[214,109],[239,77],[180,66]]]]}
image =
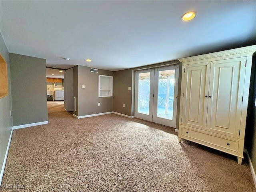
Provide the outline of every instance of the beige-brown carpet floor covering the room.
{"type": "Polygon", "coordinates": [[[255,192],[248,160],[174,129],[116,114],[76,119],[48,102],[49,124],[14,130],[0,191],[255,192]]]}

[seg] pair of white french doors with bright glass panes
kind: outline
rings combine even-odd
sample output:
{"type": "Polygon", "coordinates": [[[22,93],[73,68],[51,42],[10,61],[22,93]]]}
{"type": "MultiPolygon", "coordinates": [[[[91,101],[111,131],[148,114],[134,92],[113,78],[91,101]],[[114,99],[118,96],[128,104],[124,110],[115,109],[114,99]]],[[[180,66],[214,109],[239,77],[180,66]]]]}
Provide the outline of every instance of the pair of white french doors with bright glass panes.
{"type": "Polygon", "coordinates": [[[136,71],[136,118],[176,128],[178,67],[136,71]]]}

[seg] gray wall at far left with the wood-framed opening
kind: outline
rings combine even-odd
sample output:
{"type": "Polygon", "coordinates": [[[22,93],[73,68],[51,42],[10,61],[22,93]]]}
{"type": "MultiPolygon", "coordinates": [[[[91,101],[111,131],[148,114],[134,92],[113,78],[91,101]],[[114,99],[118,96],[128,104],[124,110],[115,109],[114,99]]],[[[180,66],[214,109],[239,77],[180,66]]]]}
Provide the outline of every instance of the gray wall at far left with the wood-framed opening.
{"type": "Polygon", "coordinates": [[[0,99],[0,167],[2,169],[4,156],[6,153],[8,141],[12,131],[12,117],[10,116],[10,111],[12,110],[12,100],[11,100],[11,81],[10,81],[10,61],[9,52],[4,43],[4,39],[0,34],[0,54],[4,58],[7,64],[7,78],[8,78],[8,95],[0,99]]]}

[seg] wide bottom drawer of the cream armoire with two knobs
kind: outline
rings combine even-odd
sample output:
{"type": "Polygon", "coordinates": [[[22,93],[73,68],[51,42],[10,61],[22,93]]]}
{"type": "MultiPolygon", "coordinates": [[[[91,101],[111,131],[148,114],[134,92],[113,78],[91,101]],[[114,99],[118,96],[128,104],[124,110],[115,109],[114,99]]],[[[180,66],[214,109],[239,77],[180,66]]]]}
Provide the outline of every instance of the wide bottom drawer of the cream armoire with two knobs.
{"type": "MultiPolygon", "coordinates": [[[[201,141],[203,145],[209,144],[238,152],[239,142],[226,138],[216,137],[182,127],[181,134],[185,137],[201,141]]],[[[200,142],[199,142],[200,143],[200,142]]]]}

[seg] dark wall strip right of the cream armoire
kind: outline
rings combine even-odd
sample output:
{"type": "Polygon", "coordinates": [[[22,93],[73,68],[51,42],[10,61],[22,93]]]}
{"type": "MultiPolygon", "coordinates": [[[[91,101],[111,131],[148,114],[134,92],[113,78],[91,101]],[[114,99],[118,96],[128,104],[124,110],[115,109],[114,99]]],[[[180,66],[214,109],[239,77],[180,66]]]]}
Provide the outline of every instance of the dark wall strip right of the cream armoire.
{"type": "Polygon", "coordinates": [[[250,80],[250,92],[248,100],[248,111],[246,118],[245,148],[247,148],[254,171],[256,172],[256,52],[252,57],[252,74],[250,80]]]}

